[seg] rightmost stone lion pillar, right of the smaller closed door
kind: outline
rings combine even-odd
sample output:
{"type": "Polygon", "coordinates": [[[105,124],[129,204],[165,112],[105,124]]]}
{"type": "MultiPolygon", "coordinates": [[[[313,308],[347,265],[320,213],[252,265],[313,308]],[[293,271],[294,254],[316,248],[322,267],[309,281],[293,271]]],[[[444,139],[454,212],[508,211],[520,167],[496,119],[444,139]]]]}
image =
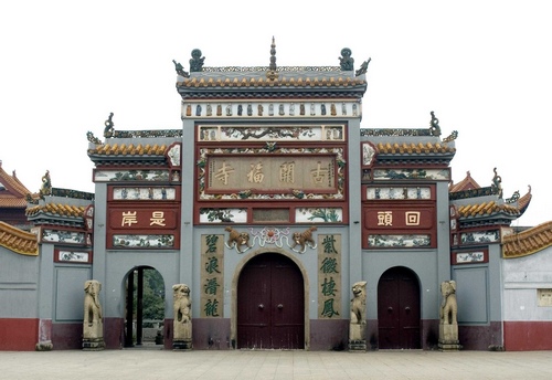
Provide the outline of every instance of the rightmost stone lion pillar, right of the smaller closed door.
{"type": "Polygon", "coordinates": [[[443,295],[443,302],[439,307],[439,350],[458,351],[461,346],[458,340],[456,282],[444,281],[440,283],[440,294],[443,295]]]}

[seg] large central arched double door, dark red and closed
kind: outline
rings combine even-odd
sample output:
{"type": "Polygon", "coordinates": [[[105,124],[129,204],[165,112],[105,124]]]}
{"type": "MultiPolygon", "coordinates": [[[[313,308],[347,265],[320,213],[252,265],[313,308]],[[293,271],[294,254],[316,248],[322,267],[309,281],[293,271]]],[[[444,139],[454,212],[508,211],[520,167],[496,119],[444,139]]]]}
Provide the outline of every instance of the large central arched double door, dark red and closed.
{"type": "Polygon", "coordinates": [[[277,253],[245,264],[237,283],[237,347],[305,348],[305,288],[299,267],[277,253]]]}

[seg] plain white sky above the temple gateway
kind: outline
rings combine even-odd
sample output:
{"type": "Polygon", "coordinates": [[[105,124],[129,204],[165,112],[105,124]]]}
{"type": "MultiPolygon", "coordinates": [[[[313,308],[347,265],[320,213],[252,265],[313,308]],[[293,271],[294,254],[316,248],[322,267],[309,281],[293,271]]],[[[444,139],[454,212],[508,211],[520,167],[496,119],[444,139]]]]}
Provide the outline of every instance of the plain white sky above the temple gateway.
{"type": "Polygon", "coordinates": [[[513,225],[552,220],[552,3],[546,0],[2,1],[0,160],[38,191],[94,191],[86,131],[177,129],[172,60],[205,66],[339,65],[372,59],[362,127],[458,130],[453,179],[469,170],[533,200],[513,225]]]}

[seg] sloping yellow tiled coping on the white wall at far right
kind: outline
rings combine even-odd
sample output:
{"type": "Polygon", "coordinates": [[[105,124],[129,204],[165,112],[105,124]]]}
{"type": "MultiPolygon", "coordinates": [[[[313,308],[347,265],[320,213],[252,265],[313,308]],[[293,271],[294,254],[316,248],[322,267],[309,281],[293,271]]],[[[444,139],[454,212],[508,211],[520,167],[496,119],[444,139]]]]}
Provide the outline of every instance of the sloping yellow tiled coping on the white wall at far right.
{"type": "Polygon", "coordinates": [[[502,257],[522,257],[549,246],[552,246],[552,221],[502,238],[502,257]]]}

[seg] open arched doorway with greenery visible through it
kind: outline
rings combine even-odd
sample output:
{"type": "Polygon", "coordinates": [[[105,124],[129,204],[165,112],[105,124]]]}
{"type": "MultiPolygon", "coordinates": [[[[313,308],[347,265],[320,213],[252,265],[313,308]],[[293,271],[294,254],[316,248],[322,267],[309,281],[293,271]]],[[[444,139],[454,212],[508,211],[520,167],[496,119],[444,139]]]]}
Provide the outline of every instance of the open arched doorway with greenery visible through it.
{"type": "Polygon", "coordinates": [[[164,282],[150,266],[137,266],[126,277],[125,347],[162,345],[164,282]]]}

